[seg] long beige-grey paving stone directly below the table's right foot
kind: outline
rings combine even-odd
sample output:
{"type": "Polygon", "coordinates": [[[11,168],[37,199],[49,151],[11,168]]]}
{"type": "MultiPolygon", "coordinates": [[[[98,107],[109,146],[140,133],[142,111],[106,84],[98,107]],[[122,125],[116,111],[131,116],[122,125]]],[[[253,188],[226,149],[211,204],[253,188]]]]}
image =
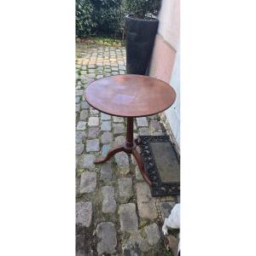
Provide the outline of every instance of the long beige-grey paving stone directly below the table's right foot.
{"type": "Polygon", "coordinates": [[[147,183],[137,183],[137,207],[140,218],[157,218],[155,199],[152,197],[147,183]]]}

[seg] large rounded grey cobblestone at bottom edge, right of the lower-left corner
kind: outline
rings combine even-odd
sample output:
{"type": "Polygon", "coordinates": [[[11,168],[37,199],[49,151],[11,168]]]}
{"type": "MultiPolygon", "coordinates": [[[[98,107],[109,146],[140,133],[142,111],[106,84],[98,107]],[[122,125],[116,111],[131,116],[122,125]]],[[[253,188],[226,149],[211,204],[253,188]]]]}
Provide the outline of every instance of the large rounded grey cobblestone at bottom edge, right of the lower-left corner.
{"type": "Polygon", "coordinates": [[[117,246],[116,230],[111,222],[102,222],[96,227],[96,236],[99,241],[97,243],[97,253],[115,253],[117,246]]]}

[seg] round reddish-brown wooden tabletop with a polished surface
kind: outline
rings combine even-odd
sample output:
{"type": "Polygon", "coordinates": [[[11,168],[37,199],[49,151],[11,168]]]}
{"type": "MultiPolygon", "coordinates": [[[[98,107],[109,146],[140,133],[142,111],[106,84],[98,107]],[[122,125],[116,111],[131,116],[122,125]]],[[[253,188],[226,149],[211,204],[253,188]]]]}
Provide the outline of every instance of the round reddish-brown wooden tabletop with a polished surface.
{"type": "Polygon", "coordinates": [[[121,117],[143,117],[172,106],[175,90],[143,75],[125,74],[98,79],[84,90],[86,101],[97,110],[121,117]]]}

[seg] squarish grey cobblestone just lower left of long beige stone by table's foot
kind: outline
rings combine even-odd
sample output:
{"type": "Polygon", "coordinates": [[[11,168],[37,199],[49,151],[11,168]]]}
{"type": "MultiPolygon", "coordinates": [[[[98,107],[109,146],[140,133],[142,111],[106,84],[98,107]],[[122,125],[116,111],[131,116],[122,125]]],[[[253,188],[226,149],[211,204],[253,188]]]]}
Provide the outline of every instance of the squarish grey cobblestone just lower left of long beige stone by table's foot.
{"type": "Polygon", "coordinates": [[[138,229],[136,206],[128,203],[119,206],[119,219],[121,231],[132,231],[138,229]]]}

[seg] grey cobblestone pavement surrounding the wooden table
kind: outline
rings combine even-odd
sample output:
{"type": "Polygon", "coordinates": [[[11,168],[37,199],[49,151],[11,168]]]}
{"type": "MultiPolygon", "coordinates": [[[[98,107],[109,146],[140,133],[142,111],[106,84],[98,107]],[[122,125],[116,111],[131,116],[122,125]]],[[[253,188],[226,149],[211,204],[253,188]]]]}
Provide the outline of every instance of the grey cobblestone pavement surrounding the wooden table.
{"type": "MultiPolygon", "coordinates": [[[[100,113],[84,100],[91,81],[125,73],[125,48],[77,44],[76,60],[76,227],[77,255],[164,254],[163,218],[175,204],[172,196],[153,198],[136,161],[116,154],[94,165],[114,144],[125,140],[125,119],[100,113]]],[[[137,135],[162,135],[158,116],[136,119],[137,135]]],[[[168,236],[169,245],[177,238],[168,236]]],[[[167,241],[168,243],[168,241],[167,241]]],[[[174,254],[175,255],[175,254],[174,254]]]]}

